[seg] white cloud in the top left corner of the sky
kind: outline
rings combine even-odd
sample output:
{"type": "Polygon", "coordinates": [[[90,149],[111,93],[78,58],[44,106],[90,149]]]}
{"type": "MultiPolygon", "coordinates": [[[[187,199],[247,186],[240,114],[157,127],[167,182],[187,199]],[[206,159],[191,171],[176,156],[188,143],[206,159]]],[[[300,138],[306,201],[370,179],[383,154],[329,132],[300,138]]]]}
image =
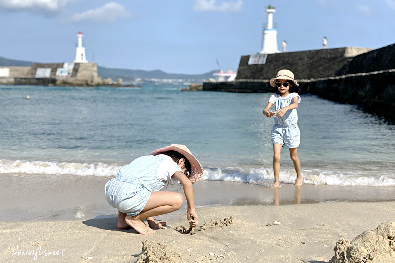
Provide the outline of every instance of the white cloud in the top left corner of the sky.
{"type": "Polygon", "coordinates": [[[55,12],[72,0],[0,0],[0,7],[9,11],[32,10],[55,12]]]}

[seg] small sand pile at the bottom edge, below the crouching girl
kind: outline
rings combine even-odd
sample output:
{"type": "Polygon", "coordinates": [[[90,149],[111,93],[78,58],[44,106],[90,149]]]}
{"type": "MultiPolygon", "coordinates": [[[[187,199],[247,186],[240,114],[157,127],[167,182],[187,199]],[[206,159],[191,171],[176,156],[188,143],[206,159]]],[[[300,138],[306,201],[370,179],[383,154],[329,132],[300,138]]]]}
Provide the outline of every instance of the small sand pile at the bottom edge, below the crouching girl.
{"type": "Polygon", "coordinates": [[[158,240],[143,241],[143,251],[136,263],[186,263],[184,256],[158,240]]]}

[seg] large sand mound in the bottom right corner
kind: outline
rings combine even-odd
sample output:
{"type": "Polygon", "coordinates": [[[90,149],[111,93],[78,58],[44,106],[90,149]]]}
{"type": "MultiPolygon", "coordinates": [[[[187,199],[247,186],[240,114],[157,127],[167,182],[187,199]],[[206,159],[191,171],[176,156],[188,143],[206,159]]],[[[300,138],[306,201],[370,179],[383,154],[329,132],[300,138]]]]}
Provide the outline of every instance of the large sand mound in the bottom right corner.
{"type": "Polygon", "coordinates": [[[387,263],[395,262],[395,222],[381,223],[376,229],[365,231],[351,242],[339,239],[331,263],[387,263]]]}

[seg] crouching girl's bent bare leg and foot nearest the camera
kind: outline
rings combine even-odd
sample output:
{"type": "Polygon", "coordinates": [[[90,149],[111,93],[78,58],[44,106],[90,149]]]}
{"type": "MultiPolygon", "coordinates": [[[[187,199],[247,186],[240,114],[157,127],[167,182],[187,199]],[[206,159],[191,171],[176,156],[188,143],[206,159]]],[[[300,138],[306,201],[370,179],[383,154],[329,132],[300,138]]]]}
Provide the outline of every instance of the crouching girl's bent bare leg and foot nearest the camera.
{"type": "Polygon", "coordinates": [[[140,234],[153,234],[155,231],[144,224],[143,219],[171,213],[181,208],[184,196],[177,192],[151,192],[143,211],[135,216],[127,215],[125,222],[140,234]]]}

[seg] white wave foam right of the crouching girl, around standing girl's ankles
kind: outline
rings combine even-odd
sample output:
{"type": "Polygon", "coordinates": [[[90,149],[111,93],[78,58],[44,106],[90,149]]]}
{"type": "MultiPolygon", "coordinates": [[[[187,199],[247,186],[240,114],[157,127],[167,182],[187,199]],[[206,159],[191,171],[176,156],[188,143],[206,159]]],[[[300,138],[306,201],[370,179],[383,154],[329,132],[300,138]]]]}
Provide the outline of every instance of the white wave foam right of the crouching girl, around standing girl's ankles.
{"type": "MultiPolygon", "coordinates": [[[[340,172],[320,169],[302,170],[303,183],[334,186],[395,186],[395,173],[340,172]]],[[[293,169],[280,170],[281,183],[294,183],[296,172],[293,169]]],[[[264,183],[274,181],[273,169],[269,168],[204,168],[201,180],[229,181],[239,183],[264,183]]]]}

